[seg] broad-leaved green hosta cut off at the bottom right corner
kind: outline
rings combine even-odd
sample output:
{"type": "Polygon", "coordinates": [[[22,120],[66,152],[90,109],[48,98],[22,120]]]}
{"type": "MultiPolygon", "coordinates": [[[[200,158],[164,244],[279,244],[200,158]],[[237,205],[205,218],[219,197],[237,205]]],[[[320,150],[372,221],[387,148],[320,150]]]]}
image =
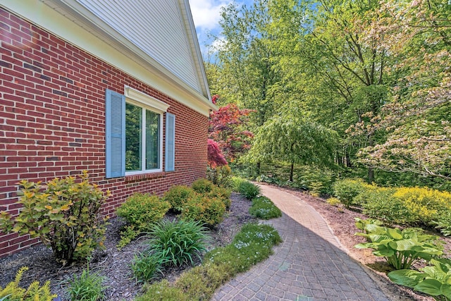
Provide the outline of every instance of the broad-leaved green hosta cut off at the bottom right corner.
{"type": "Polygon", "coordinates": [[[420,271],[391,271],[388,278],[394,283],[431,295],[435,300],[451,300],[451,260],[431,259],[431,264],[432,266],[425,266],[420,271]]]}

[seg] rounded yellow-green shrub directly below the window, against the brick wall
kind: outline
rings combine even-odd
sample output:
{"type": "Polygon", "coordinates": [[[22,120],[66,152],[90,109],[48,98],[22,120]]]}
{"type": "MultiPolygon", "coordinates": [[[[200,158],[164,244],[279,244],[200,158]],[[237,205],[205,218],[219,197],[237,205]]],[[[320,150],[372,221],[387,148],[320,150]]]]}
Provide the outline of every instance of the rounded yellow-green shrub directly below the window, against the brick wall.
{"type": "Polygon", "coordinates": [[[118,208],[118,216],[128,223],[121,231],[118,247],[127,245],[130,240],[142,232],[149,230],[152,223],[163,219],[171,204],[159,199],[156,195],[135,193],[118,208]]]}

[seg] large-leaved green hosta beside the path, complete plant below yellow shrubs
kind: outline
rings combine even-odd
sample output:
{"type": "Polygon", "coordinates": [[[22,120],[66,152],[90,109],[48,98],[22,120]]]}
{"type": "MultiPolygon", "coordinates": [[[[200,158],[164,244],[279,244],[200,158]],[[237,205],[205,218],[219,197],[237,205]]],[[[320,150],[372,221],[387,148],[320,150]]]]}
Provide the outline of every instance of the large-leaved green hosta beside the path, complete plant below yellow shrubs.
{"type": "Polygon", "coordinates": [[[433,256],[442,254],[435,241],[438,236],[417,233],[414,228],[400,230],[368,223],[365,233],[356,233],[369,240],[355,247],[371,248],[373,254],[384,257],[395,269],[409,269],[419,259],[431,260],[433,256]]]}

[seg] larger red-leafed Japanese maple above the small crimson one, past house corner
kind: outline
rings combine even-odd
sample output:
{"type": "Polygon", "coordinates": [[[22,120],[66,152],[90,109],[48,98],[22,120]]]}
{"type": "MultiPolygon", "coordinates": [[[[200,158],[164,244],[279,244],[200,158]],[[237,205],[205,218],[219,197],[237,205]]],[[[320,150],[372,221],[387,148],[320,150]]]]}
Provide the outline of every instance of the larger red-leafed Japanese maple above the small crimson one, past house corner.
{"type": "Polygon", "coordinates": [[[250,148],[254,134],[245,130],[252,110],[239,109],[235,104],[228,104],[210,114],[209,138],[218,143],[224,157],[233,161],[250,148]]]}

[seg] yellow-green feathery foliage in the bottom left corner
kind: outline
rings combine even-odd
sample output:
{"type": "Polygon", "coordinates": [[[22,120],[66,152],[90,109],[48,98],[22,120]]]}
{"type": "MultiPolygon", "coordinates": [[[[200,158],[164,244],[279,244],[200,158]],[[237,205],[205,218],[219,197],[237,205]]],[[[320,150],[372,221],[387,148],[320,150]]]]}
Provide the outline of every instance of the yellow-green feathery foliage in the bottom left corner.
{"type": "Polygon", "coordinates": [[[20,288],[19,282],[23,272],[27,271],[27,266],[23,266],[16,274],[14,281],[11,281],[5,288],[0,287],[0,300],[6,301],[51,301],[56,297],[50,293],[50,281],[39,286],[39,282],[33,281],[30,286],[20,288]]]}

